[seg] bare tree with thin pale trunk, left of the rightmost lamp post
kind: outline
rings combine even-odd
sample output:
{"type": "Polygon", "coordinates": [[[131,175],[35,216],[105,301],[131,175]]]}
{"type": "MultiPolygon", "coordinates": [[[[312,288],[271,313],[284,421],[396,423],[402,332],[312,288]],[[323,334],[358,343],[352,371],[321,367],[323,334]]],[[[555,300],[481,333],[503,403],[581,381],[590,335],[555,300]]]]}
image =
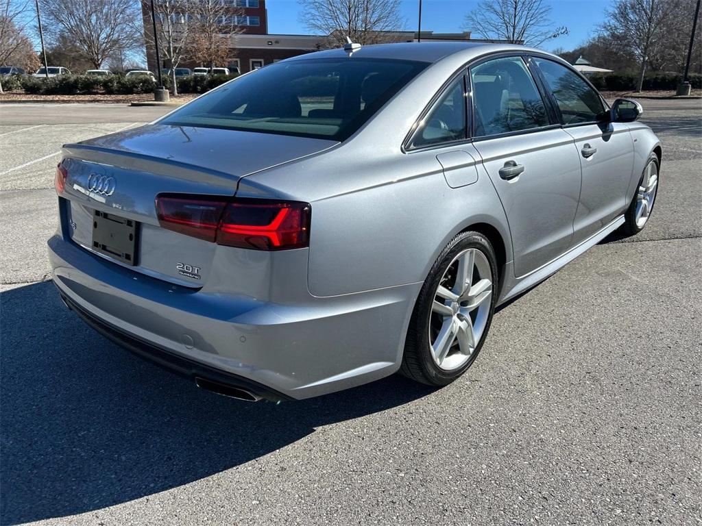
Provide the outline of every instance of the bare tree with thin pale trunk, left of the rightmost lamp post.
{"type": "Polygon", "coordinates": [[[677,0],[616,0],[607,11],[607,20],[600,29],[639,62],[637,91],[643,86],[649,55],[668,38],[663,34],[664,22],[677,4],[677,0]]]}

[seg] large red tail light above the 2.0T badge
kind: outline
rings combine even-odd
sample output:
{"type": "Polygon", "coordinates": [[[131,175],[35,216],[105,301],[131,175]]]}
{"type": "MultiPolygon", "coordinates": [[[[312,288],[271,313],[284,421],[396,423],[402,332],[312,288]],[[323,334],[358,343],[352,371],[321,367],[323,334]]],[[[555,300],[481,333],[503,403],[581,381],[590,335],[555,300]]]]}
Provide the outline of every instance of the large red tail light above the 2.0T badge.
{"type": "Polygon", "coordinates": [[[161,195],[156,210],[161,227],[218,245],[254,250],[310,245],[307,203],[161,195]]]}

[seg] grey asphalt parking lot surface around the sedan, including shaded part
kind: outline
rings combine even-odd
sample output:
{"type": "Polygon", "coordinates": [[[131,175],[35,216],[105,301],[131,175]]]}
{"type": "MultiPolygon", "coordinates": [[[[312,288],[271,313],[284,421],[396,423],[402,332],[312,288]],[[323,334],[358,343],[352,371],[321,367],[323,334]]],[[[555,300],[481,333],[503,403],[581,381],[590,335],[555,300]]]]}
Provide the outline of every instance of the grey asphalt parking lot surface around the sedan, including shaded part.
{"type": "Polygon", "coordinates": [[[164,110],[0,104],[0,522],[701,523],[702,101],[642,104],[663,142],[642,234],[503,307],[444,389],[280,405],[134,358],[47,281],[60,144],[164,110]]]}

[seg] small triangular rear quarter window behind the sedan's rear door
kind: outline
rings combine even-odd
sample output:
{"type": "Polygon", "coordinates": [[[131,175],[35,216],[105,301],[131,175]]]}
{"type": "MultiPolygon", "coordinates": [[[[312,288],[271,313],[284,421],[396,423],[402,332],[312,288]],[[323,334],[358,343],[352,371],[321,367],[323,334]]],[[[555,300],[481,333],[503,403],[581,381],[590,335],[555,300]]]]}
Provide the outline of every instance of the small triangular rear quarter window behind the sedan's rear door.
{"type": "Polygon", "coordinates": [[[453,81],[435,102],[412,140],[412,147],[465,139],[463,76],[453,81]]]}

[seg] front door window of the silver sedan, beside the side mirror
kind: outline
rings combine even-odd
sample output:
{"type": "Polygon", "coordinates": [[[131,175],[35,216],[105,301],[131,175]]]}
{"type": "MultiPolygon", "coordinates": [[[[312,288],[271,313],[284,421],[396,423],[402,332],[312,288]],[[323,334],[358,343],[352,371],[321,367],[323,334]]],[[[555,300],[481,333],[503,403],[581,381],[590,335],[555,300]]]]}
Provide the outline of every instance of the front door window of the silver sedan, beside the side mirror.
{"type": "Polygon", "coordinates": [[[546,84],[556,99],[566,124],[597,121],[603,111],[602,100],[577,74],[552,60],[535,58],[546,84]]]}

